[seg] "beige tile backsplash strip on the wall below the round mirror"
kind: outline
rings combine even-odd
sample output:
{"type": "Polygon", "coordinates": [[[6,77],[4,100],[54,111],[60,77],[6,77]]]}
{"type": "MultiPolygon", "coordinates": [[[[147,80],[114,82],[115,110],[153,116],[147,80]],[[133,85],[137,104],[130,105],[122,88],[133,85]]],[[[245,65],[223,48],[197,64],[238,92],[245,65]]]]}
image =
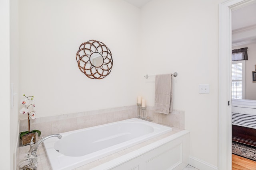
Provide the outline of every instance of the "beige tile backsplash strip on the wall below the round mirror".
{"type": "MultiPolygon", "coordinates": [[[[30,121],[30,129],[40,130],[42,132],[41,138],[54,133],[63,133],[134,117],[137,117],[137,106],[116,107],[50,117],[38,117],[30,121]]],[[[28,120],[20,120],[20,131],[27,131],[27,128],[28,120]]],[[[37,139],[40,138],[37,136],[37,139]]]]}

